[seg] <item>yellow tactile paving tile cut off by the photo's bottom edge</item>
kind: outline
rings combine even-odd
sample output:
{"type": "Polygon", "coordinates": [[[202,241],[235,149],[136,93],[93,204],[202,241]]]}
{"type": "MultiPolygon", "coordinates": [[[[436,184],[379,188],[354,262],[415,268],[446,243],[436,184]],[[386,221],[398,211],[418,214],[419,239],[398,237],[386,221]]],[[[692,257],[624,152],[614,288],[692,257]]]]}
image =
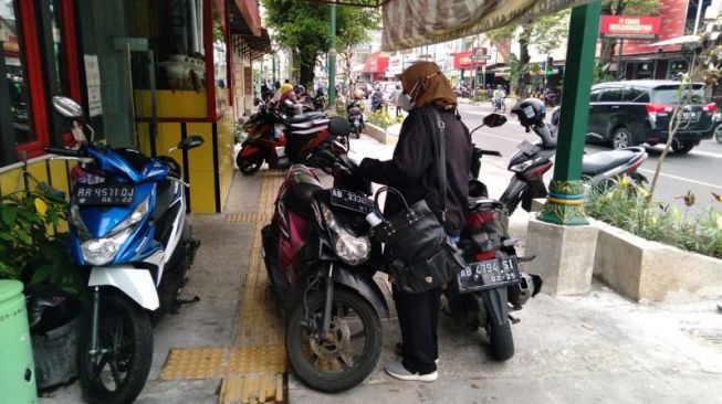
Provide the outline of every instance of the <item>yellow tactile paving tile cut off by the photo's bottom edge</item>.
{"type": "Polygon", "coordinates": [[[223,379],[219,403],[283,403],[285,397],[283,373],[232,374],[223,379]]]}

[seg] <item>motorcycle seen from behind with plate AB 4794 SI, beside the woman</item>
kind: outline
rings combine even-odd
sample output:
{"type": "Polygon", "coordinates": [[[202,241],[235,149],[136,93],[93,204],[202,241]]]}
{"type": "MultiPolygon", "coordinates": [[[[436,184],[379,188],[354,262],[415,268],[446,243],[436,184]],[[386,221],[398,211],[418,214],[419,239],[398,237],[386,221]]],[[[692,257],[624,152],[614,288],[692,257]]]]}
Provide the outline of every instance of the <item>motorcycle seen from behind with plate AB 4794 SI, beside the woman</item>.
{"type": "MultiPolygon", "coordinates": [[[[489,115],[484,125],[495,127],[506,119],[489,115]]],[[[457,283],[444,293],[449,312],[459,328],[483,328],[489,337],[489,352],[498,361],[514,355],[511,325],[517,322],[511,310],[521,310],[526,301],[538,294],[542,278],[519,270],[519,262],[532,258],[517,257],[512,238],[501,220],[505,214],[502,202],[489,199],[486,187],[479,182],[481,149],[474,148],[469,191],[469,213],[459,240],[467,268],[457,283]]]]}

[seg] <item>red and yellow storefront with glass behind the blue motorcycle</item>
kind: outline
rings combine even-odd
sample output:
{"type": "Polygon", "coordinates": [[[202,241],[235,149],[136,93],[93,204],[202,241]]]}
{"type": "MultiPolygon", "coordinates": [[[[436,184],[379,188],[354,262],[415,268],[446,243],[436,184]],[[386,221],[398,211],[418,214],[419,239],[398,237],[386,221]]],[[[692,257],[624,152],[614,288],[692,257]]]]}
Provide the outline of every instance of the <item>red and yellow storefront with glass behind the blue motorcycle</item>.
{"type": "Polygon", "coordinates": [[[175,156],[190,208],[219,212],[233,174],[233,124],[252,103],[251,60],[269,50],[255,1],[6,1],[0,6],[0,192],[23,161],[69,191],[70,164],[43,148],[74,146],[50,99],[85,109],[95,140],[165,153],[182,137],[206,145],[175,156]]]}

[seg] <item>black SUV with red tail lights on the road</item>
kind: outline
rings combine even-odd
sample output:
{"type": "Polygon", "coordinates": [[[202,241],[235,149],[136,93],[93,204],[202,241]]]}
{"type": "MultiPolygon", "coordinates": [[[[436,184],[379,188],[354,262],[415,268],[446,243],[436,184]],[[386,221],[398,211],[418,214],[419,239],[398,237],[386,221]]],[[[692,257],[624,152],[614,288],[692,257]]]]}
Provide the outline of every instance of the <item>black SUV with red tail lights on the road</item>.
{"type": "MultiPolygon", "coordinates": [[[[682,121],[672,149],[684,155],[711,139],[716,104],[708,103],[702,83],[692,84],[691,94],[680,91],[680,82],[627,81],[597,84],[592,87],[589,123],[586,139],[621,149],[640,143],[663,143],[669,135],[669,120],[676,105],[690,100],[682,109],[682,121]]],[[[689,87],[684,87],[689,88],[689,87]]]]}

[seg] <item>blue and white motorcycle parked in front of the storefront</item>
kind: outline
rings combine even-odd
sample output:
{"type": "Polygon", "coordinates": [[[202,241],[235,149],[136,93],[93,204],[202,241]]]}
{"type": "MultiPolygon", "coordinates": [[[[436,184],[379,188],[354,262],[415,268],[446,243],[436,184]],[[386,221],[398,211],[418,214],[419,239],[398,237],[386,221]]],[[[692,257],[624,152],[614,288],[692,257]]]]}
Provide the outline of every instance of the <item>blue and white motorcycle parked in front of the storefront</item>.
{"type": "MultiPolygon", "coordinates": [[[[80,127],[82,108],[53,97],[80,127]]],[[[201,146],[199,136],[177,148],[201,146]]],[[[147,158],[129,148],[90,142],[48,152],[83,163],[70,199],[70,252],[88,270],[92,302],[79,341],[79,380],[92,403],[129,403],[143,390],[153,360],[151,321],[178,308],[186,272],[199,243],[186,221],[186,187],[171,157],[147,158]]]]}

